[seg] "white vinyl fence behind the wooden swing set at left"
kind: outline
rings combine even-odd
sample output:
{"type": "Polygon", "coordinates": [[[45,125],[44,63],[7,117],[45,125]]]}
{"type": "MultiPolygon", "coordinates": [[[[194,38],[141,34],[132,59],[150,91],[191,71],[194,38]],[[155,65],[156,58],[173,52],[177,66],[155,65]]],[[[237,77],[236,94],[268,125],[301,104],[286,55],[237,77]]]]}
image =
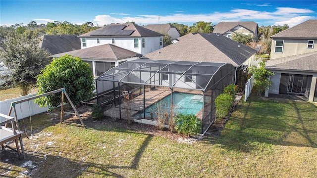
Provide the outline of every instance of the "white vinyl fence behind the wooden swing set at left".
{"type": "MultiPolygon", "coordinates": [[[[29,98],[35,95],[37,95],[37,93],[0,101],[0,113],[7,115],[11,106],[11,102],[29,98]]],[[[16,104],[15,109],[16,109],[16,115],[18,119],[26,118],[29,116],[33,116],[35,114],[48,111],[47,107],[40,107],[37,103],[34,102],[34,100],[25,101],[23,103],[16,104]]],[[[11,112],[10,116],[14,117],[13,111],[11,112]]],[[[0,121],[2,121],[3,119],[4,118],[0,118],[0,121]]]]}

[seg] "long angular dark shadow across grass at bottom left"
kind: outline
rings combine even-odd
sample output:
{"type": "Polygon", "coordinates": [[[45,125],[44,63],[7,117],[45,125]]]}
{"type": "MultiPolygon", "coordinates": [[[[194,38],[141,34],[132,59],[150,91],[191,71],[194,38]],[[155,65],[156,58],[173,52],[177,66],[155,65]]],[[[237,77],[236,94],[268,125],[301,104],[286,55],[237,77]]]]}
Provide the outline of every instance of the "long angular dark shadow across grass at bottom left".
{"type": "Polygon", "coordinates": [[[19,160],[16,152],[5,150],[1,151],[0,156],[1,162],[6,163],[7,165],[1,166],[0,175],[3,178],[12,178],[10,175],[26,175],[34,178],[76,178],[84,174],[84,176],[87,177],[101,176],[123,178],[123,176],[114,173],[111,170],[119,169],[120,171],[117,172],[123,172],[125,169],[138,169],[141,156],[153,138],[153,135],[151,134],[145,135],[147,136],[138,148],[137,153],[134,155],[130,166],[97,164],[94,162],[85,162],[81,160],[53,156],[32,150],[26,150],[26,160],[19,160]],[[19,171],[19,169],[14,166],[20,167],[22,171],[19,171]]]}

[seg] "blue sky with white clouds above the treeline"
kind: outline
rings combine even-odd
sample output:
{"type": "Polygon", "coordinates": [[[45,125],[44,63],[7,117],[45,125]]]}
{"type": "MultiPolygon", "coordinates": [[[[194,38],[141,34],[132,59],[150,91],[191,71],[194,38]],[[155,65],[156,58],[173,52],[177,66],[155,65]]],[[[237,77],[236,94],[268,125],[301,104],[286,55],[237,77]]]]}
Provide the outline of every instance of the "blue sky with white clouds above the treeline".
{"type": "Polygon", "coordinates": [[[0,0],[0,25],[7,26],[56,20],[99,26],[254,21],[292,27],[309,19],[317,19],[317,0],[0,0]]]}

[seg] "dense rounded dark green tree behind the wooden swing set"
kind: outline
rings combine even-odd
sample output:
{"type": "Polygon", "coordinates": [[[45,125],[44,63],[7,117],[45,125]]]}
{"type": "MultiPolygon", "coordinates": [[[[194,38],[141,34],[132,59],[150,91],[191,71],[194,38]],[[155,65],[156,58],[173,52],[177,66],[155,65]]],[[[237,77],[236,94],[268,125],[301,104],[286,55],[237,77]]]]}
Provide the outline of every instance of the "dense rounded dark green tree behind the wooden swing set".
{"type": "MultiPolygon", "coordinates": [[[[65,88],[71,101],[78,105],[92,96],[95,89],[93,80],[89,64],[83,62],[79,57],[66,54],[53,59],[41,71],[41,74],[37,76],[36,86],[39,94],[65,88]]],[[[57,107],[60,101],[60,94],[52,94],[36,100],[40,106],[49,107],[57,107]]],[[[65,102],[68,101],[65,100],[65,102]]]]}

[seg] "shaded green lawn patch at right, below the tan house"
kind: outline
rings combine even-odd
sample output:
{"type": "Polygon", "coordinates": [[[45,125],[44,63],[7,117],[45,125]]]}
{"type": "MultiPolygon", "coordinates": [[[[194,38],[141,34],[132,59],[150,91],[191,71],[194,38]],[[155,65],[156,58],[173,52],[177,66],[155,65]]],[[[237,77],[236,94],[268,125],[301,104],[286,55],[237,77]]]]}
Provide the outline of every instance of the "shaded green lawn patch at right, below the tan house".
{"type": "Polygon", "coordinates": [[[230,116],[221,137],[211,137],[229,150],[243,152],[269,151],[271,145],[317,148],[317,124],[307,111],[316,111],[314,104],[252,98],[230,116]],[[313,126],[312,126],[313,124],[313,126]]]}

